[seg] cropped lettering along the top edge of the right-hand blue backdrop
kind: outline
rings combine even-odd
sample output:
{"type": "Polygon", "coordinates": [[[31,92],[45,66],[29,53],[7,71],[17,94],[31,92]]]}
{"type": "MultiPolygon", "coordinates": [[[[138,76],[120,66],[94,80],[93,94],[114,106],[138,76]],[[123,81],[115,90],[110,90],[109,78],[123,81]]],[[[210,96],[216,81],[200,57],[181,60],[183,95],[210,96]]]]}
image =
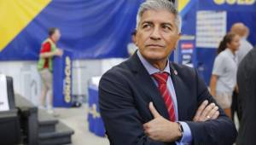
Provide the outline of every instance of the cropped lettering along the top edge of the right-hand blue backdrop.
{"type": "Polygon", "coordinates": [[[238,4],[238,5],[253,5],[256,0],[213,0],[216,4],[238,4]]]}

